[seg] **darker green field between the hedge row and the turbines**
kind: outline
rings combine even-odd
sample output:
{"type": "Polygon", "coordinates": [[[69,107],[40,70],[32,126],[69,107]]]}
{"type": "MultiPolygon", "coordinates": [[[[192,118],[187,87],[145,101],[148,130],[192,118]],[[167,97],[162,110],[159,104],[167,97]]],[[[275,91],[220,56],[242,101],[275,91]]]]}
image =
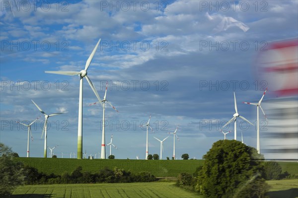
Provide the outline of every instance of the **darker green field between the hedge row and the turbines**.
{"type": "Polygon", "coordinates": [[[25,165],[37,168],[44,173],[61,175],[64,172],[71,173],[77,166],[83,171],[91,173],[108,167],[130,170],[133,173],[149,171],[155,177],[177,177],[181,172],[194,173],[201,166],[203,160],[129,160],[129,159],[62,159],[62,158],[15,158],[25,165]]]}

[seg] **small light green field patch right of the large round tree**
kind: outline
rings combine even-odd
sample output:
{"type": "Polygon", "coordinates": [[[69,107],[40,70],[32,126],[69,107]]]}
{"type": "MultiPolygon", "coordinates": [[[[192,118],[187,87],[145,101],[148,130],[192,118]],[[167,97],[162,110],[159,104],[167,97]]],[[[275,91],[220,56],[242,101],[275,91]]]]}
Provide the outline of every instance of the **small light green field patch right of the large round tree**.
{"type": "Polygon", "coordinates": [[[271,180],[269,198],[298,198],[298,180],[271,180]]]}

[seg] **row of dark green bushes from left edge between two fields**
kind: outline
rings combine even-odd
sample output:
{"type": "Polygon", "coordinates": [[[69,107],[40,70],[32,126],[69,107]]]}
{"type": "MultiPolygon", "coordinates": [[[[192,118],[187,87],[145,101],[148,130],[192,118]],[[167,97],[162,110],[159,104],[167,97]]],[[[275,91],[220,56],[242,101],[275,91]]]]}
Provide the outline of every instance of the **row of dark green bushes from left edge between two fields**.
{"type": "Polygon", "coordinates": [[[11,148],[0,143],[0,198],[7,198],[18,185],[38,184],[91,184],[91,183],[131,183],[153,182],[156,178],[144,171],[132,173],[115,167],[113,170],[105,167],[96,173],[83,171],[78,166],[71,174],[46,174],[36,168],[24,166],[22,162],[13,160],[17,157],[11,148]]]}

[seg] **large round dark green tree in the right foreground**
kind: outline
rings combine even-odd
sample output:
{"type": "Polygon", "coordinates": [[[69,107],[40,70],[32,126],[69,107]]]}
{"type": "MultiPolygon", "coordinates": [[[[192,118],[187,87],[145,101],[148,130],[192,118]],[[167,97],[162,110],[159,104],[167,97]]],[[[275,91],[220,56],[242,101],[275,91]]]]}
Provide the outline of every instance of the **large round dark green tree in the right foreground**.
{"type": "MultiPolygon", "coordinates": [[[[219,140],[203,156],[203,167],[199,170],[196,190],[207,198],[231,198],[251,195],[255,189],[245,188],[255,181],[263,184],[260,175],[263,167],[257,150],[236,140],[219,140]]],[[[242,198],[242,197],[241,197],[242,198]]]]}

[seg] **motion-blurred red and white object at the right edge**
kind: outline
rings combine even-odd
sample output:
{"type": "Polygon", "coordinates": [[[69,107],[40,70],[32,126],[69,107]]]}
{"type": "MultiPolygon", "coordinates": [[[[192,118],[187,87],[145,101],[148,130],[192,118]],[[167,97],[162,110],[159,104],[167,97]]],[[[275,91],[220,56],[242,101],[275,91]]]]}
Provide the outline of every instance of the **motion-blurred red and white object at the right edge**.
{"type": "Polygon", "coordinates": [[[298,160],[298,39],[268,43],[266,49],[256,60],[257,79],[267,84],[269,95],[261,153],[266,159],[298,160]]]}

